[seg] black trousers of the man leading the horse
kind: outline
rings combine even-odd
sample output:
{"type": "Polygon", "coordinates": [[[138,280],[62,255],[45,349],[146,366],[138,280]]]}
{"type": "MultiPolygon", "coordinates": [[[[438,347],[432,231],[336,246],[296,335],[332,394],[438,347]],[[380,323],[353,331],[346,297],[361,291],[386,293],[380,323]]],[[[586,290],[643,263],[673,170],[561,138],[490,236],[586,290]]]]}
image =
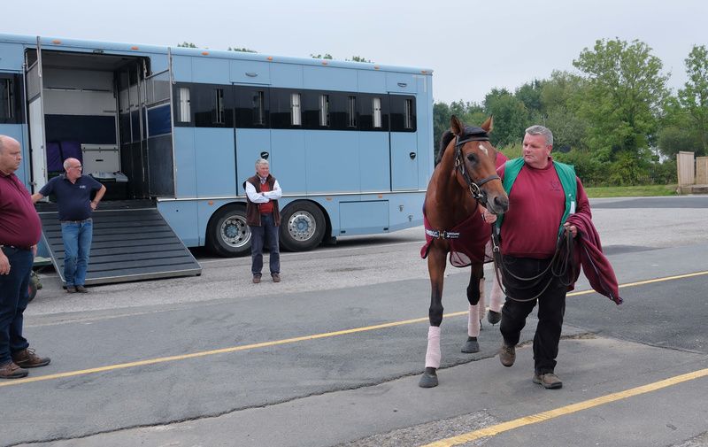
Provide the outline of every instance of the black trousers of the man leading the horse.
{"type": "MultiPolygon", "coordinates": [[[[548,259],[515,258],[504,256],[504,268],[519,278],[530,278],[543,272],[550,264],[548,259]]],[[[552,276],[550,271],[536,281],[520,281],[504,273],[504,288],[507,298],[502,308],[502,322],[499,329],[504,336],[504,344],[515,346],[519,343],[521,329],[526,325],[528,314],[538,302],[538,326],[534,336],[534,368],[537,374],[553,373],[558,357],[563,317],[566,314],[566,292],[560,278],[552,276]],[[549,284],[549,279],[550,284],[549,284]],[[546,286],[548,285],[548,288],[546,286]],[[519,303],[513,298],[527,299],[535,297],[544,288],[537,299],[519,303]]]]}

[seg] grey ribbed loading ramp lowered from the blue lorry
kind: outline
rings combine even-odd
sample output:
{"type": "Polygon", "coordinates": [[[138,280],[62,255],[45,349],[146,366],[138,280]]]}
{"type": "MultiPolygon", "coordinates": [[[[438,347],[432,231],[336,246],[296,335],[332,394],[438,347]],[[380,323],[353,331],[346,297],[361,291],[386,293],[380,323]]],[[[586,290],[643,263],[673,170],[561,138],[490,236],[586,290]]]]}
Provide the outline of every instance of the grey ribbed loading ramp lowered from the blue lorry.
{"type": "MultiPolygon", "coordinates": [[[[59,278],[64,278],[64,243],[56,204],[37,204],[42,239],[59,278]]],[[[196,276],[202,266],[150,200],[102,202],[93,213],[93,243],[87,285],[196,276]]]]}

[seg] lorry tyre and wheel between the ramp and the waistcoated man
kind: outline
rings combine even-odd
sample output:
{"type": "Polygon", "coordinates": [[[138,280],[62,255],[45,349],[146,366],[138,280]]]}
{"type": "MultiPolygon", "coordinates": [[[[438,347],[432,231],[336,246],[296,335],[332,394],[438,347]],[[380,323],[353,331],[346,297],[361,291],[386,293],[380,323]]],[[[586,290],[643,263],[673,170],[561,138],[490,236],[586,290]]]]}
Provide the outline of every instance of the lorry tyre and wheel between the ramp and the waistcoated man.
{"type": "Polygon", "coordinates": [[[227,258],[250,254],[250,228],[244,205],[229,204],[212,215],[206,228],[206,247],[227,258]]]}

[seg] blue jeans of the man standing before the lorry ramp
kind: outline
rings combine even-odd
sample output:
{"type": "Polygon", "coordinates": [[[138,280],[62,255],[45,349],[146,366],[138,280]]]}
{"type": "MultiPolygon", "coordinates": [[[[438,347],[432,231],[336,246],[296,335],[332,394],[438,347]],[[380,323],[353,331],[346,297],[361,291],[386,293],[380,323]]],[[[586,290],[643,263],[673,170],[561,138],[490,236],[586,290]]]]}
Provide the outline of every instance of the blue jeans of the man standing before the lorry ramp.
{"type": "Polygon", "coordinates": [[[86,283],[86,270],[89,268],[89,252],[91,251],[93,233],[94,223],[90,219],[61,223],[66,287],[82,286],[86,283]]]}

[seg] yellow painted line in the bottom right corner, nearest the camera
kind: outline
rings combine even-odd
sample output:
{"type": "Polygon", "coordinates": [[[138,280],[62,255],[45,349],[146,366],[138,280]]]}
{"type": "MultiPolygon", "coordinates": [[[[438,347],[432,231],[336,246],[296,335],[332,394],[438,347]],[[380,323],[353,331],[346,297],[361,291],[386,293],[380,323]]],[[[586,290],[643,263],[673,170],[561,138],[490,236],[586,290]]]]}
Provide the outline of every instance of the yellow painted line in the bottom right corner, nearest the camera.
{"type": "Polygon", "coordinates": [[[588,410],[589,408],[598,405],[610,404],[611,402],[620,399],[626,399],[627,397],[639,396],[640,394],[645,394],[651,391],[656,391],[657,389],[670,387],[683,381],[692,381],[695,379],[699,379],[701,377],[705,377],[706,375],[708,375],[708,368],[701,369],[699,371],[694,371],[693,373],[677,375],[675,377],[671,377],[663,381],[655,381],[654,383],[649,383],[641,387],[626,389],[624,391],[608,394],[606,396],[596,397],[594,399],[578,402],[577,404],[562,406],[560,408],[555,408],[548,412],[539,412],[536,414],[531,414],[529,416],[524,416],[523,418],[509,420],[507,422],[502,422],[501,424],[496,424],[487,428],[474,430],[463,435],[451,436],[449,438],[441,439],[439,441],[435,441],[435,443],[428,443],[421,447],[452,447],[453,445],[469,443],[470,441],[474,441],[483,437],[498,435],[514,428],[524,427],[526,425],[543,422],[545,420],[555,419],[560,416],[565,416],[566,414],[571,414],[573,412],[581,412],[582,410],[588,410]]]}

